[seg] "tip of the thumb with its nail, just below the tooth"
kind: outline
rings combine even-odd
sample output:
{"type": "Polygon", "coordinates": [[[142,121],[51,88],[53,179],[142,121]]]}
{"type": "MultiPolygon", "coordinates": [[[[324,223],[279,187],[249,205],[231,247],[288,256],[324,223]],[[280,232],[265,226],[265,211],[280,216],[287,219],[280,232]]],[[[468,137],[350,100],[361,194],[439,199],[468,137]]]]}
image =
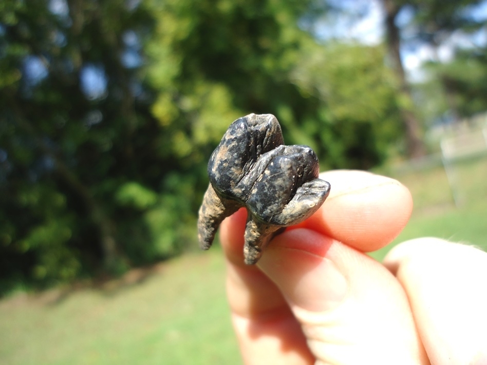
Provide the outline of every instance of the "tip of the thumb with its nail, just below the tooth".
{"type": "Polygon", "coordinates": [[[331,239],[321,234],[295,229],[276,238],[258,266],[290,304],[327,311],[342,303],[348,293],[345,276],[325,257],[330,244],[331,239]]]}

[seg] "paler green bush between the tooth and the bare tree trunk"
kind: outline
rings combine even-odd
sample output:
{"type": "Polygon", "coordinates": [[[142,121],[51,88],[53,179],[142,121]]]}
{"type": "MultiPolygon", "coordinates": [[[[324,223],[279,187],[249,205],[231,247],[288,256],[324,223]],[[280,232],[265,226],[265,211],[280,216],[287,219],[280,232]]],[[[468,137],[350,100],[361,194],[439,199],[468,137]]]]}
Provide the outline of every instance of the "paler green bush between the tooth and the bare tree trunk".
{"type": "Polygon", "coordinates": [[[396,82],[390,69],[378,67],[384,57],[381,46],[328,44],[323,49],[309,42],[303,48],[292,78],[320,105],[315,119],[296,129],[315,137],[308,144],[328,167],[370,168],[384,161],[398,141],[396,82]]]}

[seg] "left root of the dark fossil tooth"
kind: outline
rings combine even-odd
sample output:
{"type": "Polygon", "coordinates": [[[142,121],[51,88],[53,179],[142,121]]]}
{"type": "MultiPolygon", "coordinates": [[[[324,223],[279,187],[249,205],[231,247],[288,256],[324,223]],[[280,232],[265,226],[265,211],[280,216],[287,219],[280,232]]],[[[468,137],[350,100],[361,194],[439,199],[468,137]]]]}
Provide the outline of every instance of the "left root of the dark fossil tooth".
{"type": "Polygon", "coordinates": [[[211,247],[220,223],[239,207],[240,205],[232,200],[221,199],[213,186],[208,186],[198,213],[198,240],[202,249],[211,247]]]}

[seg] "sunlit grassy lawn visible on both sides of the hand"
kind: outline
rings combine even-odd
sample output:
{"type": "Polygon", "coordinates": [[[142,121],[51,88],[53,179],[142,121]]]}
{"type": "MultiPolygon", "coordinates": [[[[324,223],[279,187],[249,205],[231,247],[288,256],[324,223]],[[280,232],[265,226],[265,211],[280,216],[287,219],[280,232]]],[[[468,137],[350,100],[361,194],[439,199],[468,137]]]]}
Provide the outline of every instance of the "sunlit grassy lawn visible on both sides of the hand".
{"type": "MultiPolygon", "coordinates": [[[[413,193],[406,239],[437,236],[487,248],[487,159],[456,168],[455,207],[442,167],[391,174],[413,193]]],[[[119,280],[0,301],[0,363],[238,364],[221,249],[135,270],[119,280]]]]}

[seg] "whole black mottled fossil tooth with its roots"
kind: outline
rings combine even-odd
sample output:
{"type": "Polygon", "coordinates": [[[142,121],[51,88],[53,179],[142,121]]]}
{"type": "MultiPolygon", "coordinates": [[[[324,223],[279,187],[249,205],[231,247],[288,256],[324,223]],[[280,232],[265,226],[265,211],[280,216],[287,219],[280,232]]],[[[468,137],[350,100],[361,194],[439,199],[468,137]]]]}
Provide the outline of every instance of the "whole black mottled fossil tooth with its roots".
{"type": "Polygon", "coordinates": [[[330,191],[330,184],[318,178],[311,147],[284,145],[272,114],[249,114],[233,122],[210,157],[208,175],[198,217],[200,246],[210,248],[221,221],[245,206],[247,264],[256,263],[286,226],[316,212],[330,191]]]}

